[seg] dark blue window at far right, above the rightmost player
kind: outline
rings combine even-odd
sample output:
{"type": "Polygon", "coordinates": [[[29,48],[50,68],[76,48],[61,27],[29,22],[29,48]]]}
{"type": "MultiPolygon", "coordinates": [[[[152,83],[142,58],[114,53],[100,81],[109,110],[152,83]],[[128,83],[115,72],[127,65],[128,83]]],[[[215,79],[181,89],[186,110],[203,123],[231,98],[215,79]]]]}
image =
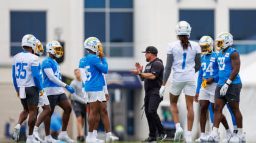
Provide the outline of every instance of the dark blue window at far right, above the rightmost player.
{"type": "Polygon", "coordinates": [[[256,40],[256,10],[230,10],[230,33],[234,40],[256,40]]]}

